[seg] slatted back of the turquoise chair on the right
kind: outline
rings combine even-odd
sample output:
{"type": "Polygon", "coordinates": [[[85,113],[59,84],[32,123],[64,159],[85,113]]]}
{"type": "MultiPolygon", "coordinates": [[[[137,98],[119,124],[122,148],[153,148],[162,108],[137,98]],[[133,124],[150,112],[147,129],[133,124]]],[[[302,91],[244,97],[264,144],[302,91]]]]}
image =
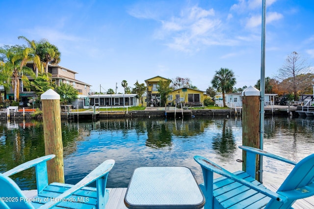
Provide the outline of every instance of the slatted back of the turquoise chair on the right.
{"type": "Polygon", "coordinates": [[[305,157],[295,165],[286,180],[277,190],[277,193],[283,192],[285,195],[285,191],[291,190],[300,191],[300,193],[294,193],[284,205],[279,205],[278,201],[271,200],[266,208],[279,209],[279,206],[289,208],[296,200],[314,195],[314,154],[305,157]]]}

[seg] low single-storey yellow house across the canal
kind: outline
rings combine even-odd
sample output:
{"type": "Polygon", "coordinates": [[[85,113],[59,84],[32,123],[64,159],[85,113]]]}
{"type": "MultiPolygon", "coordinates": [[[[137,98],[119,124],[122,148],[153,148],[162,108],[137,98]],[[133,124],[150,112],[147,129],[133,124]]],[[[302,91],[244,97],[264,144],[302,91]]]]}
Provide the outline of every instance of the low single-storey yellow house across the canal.
{"type": "Polygon", "coordinates": [[[204,92],[187,87],[175,89],[168,95],[167,103],[168,105],[183,103],[188,106],[204,106],[204,92]]]}

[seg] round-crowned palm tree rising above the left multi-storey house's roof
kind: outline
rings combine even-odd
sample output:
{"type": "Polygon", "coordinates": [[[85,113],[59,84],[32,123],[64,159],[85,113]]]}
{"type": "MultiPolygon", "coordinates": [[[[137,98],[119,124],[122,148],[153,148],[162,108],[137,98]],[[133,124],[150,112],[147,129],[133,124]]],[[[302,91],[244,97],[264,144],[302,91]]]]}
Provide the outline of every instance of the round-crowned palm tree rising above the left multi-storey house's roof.
{"type": "Polygon", "coordinates": [[[48,64],[56,65],[61,61],[61,52],[46,39],[42,39],[36,46],[36,53],[44,63],[45,72],[48,73],[48,64]]]}

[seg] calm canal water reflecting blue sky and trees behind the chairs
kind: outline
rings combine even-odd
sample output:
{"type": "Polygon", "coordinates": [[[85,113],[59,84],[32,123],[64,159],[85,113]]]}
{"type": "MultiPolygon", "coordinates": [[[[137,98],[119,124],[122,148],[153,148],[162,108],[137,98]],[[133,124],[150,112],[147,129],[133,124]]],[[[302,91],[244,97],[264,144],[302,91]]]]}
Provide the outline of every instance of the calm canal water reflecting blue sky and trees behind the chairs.
{"type": "MultiPolygon", "coordinates": [[[[186,166],[198,183],[203,182],[193,156],[209,158],[230,171],[242,152],[241,118],[193,118],[188,120],[121,119],[62,121],[66,183],[77,183],[106,159],[115,165],[107,187],[127,187],[140,166],[186,166]]],[[[314,120],[266,117],[264,150],[299,161],[314,153],[314,120]]],[[[0,122],[0,172],[45,155],[42,122],[0,122]]],[[[264,157],[264,183],[282,183],[292,166],[264,157]]],[[[16,174],[22,189],[36,188],[34,170],[16,174]]]]}

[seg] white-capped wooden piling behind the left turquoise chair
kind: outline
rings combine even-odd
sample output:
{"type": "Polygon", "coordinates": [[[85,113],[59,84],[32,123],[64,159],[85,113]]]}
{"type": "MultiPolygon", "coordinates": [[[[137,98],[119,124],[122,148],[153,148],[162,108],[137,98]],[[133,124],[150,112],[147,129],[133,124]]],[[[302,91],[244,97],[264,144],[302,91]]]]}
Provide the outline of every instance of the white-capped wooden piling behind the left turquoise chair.
{"type": "Polygon", "coordinates": [[[55,155],[53,159],[47,161],[48,182],[64,183],[60,95],[49,89],[41,95],[41,101],[45,155],[55,155]]]}

